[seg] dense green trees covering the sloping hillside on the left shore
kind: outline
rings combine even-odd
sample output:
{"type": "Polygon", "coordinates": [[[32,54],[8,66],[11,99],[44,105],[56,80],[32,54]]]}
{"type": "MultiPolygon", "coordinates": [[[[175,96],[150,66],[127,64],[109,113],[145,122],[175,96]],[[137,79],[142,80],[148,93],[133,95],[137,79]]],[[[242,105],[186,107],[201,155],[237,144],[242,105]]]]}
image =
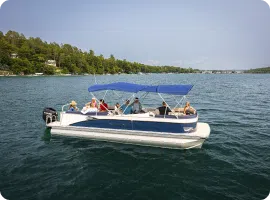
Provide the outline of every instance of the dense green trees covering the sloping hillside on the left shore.
{"type": "Polygon", "coordinates": [[[194,73],[196,70],[173,66],[150,66],[137,62],[115,59],[113,55],[104,58],[93,50],[83,52],[69,44],[47,43],[40,38],[25,38],[23,34],[0,31],[0,70],[11,70],[15,74],[55,73],[72,74],[133,74],[143,73],[194,73]],[[16,55],[15,57],[12,54],[16,55]],[[55,60],[56,67],[46,65],[55,60]]]}

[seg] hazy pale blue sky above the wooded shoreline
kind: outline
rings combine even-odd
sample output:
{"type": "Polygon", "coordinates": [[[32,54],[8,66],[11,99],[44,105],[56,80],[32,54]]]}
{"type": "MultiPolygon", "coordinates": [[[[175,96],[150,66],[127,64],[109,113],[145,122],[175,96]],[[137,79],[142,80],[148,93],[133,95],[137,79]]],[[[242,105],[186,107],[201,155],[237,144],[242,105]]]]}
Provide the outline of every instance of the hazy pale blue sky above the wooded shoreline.
{"type": "Polygon", "coordinates": [[[0,0],[0,31],[196,69],[270,66],[270,0],[0,0]]]}

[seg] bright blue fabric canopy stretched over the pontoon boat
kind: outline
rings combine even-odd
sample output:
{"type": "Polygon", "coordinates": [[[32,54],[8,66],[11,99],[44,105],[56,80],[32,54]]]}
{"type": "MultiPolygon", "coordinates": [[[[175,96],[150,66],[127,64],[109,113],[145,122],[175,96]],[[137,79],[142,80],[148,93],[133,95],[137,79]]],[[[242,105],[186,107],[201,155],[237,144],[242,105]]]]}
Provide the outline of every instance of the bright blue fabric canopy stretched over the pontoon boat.
{"type": "Polygon", "coordinates": [[[117,82],[110,84],[97,84],[88,88],[89,92],[96,92],[102,90],[118,90],[124,92],[153,92],[153,93],[165,93],[174,95],[186,95],[192,89],[193,85],[139,85],[133,83],[117,82]]]}

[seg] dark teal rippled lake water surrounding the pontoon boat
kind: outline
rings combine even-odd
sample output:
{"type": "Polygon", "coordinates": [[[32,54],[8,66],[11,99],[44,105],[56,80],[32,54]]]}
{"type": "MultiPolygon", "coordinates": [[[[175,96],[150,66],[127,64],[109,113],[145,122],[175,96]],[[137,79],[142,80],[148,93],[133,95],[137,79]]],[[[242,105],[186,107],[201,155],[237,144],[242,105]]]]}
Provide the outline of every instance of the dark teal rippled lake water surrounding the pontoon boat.
{"type": "Polygon", "coordinates": [[[82,107],[93,76],[0,77],[0,199],[269,198],[270,75],[97,76],[115,81],[194,84],[188,100],[210,138],[202,149],[170,150],[51,137],[43,108],[82,107]]]}

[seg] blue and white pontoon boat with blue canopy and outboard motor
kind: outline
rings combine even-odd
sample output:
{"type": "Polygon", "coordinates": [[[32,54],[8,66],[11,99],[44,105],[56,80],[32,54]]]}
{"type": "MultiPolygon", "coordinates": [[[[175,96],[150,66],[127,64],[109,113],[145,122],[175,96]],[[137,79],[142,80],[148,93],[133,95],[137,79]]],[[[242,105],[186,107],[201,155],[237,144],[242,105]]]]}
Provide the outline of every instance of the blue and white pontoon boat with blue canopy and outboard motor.
{"type": "MultiPolygon", "coordinates": [[[[122,91],[131,93],[130,100],[138,93],[144,97],[149,93],[185,97],[193,85],[139,85],[117,82],[111,84],[96,84],[88,88],[94,97],[98,91],[122,91]]],[[[105,97],[104,95],[104,97],[105,97]]],[[[104,98],[103,97],[103,98],[104,98]]],[[[183,99],[183,98],[182,98],[183,99]]],[[[52,135],[85,137],[92,140],[135,144],[143,146],[189,149],[201,148],[205,139],[210,135],[210,127],[207,123],[198,122],[197,112],[186,115],[183,108],[170,108],[169,114],[160,115],[155,109],[144,108],[138,114],[123,114],[108,109],[106,112],[80,111],[57,112],[51,108],[44,110],[46,126],[51,128],[52,135]]]]}

